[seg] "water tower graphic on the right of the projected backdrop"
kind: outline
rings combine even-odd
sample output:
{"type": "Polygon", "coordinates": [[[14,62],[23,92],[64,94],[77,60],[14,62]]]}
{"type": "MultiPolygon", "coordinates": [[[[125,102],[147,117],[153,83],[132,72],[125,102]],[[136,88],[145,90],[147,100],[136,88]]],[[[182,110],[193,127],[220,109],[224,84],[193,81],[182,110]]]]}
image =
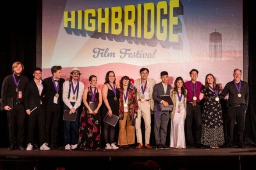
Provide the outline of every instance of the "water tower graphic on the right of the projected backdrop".
{"type": "Polygon", "coordinates": [[[222,36],[216,31],[210,34],[210,60],[222,60],[222,36]]]}

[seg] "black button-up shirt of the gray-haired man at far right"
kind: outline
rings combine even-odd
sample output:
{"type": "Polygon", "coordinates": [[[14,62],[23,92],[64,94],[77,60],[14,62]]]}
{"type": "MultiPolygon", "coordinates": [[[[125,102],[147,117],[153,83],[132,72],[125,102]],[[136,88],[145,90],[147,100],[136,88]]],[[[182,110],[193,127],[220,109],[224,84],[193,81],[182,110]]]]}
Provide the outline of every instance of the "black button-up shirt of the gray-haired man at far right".
{"type": "MultiPolygon", "coordinates": [[[[220,99],[224,99],[225,96],[228,94],[228,104],[235,106],[235,105],[246,105],[246,110],[248,108],[248,102],[249,102],[249,86],[247,82],[242,81],[241,84],[241,90],[240,94],[241,97],[238,97],[238,90],[235,87],[235,84],[233,81],[228,82],[228,84],[225,85],[222,93],[219,95],[220,99]]],[[[237,84],[239,86],[239,83],[237,84]]]]}

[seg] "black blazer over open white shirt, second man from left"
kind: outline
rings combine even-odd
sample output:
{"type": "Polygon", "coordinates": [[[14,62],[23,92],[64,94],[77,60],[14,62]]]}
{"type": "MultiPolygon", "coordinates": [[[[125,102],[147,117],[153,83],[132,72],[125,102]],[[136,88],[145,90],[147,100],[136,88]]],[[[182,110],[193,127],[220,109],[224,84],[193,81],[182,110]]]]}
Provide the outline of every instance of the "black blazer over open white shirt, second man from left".
{"type": "Polygon", "coordinates": [[[33,105],[32,104],[33,100],[34,100],[37,108],[39,108],[39,106],[41,104],[40,101],[42,101],[43,111],[45,110],[44,101],[43,101],[43,92],[41,93],[41,95],[39,95],[39,90],[38,90],[36,82],[34,80],[29,82],[25,88],[25,93],[24,93],[25,110],[32,109],[32,108],[29,108],[29,105],[33,105]]]}

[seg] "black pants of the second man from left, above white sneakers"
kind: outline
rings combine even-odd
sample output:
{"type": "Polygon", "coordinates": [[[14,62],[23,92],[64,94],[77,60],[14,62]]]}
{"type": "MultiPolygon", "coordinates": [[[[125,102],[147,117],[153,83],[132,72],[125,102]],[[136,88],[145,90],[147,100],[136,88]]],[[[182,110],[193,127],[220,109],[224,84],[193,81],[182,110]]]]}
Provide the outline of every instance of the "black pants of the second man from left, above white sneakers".
{"type": "Polygon", "coordinates": [[[36,109],[28,116],[28,143],[34,144],[34,130],[36,122],[39,129],[40,146],[45,143],[45,112],[42,107],[36,109]]]}

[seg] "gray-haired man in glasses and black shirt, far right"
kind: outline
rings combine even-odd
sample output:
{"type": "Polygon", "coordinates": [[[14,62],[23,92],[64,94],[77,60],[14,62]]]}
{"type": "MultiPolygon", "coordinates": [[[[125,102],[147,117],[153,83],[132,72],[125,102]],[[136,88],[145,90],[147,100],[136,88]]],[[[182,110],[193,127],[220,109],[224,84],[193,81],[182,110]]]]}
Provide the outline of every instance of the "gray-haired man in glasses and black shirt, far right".
{"type": "Polygon", "coordinates": [[[227,133],[228,141],[226,147],[232,146],[233,130],[235,122],[237,123],[238,147],[244,148],[243,133],[245,129],[245,113],[249,102],[249,86],[247,82],[241,80],[242,70],[236,68],[233,73],[234,80],[228,82],[223,92],[220,94],[220,99],[228,94],[228,113],[227,113],[227,133]]]}

